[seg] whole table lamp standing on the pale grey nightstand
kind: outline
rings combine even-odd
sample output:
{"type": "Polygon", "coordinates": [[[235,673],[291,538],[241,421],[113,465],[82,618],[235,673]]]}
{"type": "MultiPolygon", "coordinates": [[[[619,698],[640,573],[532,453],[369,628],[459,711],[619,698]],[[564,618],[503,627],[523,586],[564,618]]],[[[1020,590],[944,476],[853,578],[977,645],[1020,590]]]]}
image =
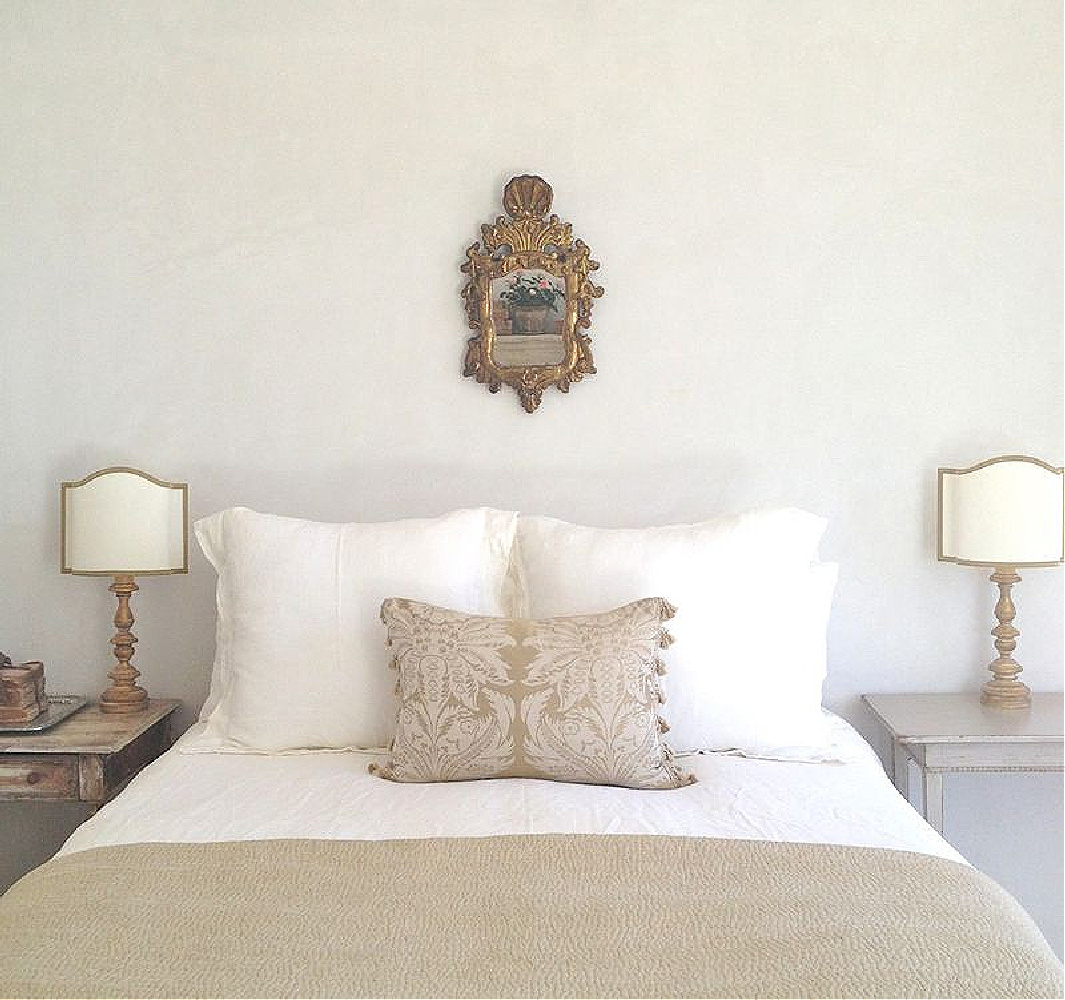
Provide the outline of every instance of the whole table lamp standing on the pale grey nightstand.
{"type": "Polygon", "coordinates": [[[969,469],[939,470],[938,558],[962,565],[994,567],[999,588],[995,617],[996,659],[980,701],[996,708],[1026,708],[1032,692],[1017,679],[1013,658],[1020,632],[1011,591],[1018,567],[1058,565],[1065,559],[1063,470],[1025,455],[989,458],[969,469]]]}

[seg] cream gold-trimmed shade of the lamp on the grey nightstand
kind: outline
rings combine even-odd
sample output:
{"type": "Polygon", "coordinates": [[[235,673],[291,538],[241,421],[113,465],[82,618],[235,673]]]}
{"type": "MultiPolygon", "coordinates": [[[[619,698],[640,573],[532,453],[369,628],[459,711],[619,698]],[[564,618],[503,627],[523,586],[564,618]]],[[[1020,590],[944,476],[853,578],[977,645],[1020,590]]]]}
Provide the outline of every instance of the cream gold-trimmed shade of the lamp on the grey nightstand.
{"type": "Polygon", "coordinates": [[[939,470],[938,557],[967,565],[1065,558],[1063,471],[1023,455],[939,470]]]}

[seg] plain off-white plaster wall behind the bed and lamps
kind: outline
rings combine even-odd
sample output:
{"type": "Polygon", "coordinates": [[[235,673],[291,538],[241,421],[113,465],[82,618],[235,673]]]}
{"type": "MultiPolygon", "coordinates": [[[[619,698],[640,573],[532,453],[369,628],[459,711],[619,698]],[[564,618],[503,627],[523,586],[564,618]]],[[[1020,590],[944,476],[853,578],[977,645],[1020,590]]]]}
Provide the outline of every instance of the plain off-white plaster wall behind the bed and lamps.
{"type": "MultiPolygon", "coordinates": [[[[1036,0],[0,5],[3,649],[101,690],[112,599],[58,572],[58,483],[129,463],[187,479],[196,515],[800,505],[842,565],[828,703],[872,736],[863,691],[974,691],[994,593],[935,561],[935,470],[1063,458],[1061,20],[1036,0]],[[459,374],[458,265],[520,171],[607,293],[601,374],[532,416],[459,374]]],[[[1060,690],[1062,573],[1022,575],[1018,659],[1060,690]]],[[[137,663],[186,722],[212,588],[196,553],[136,595],[137,663]]],[[[947,796],[948,836],[1061,951],[1060,777],[947,796]]],[[[3,807],[9,876],[79,815],[3,807]]]]}

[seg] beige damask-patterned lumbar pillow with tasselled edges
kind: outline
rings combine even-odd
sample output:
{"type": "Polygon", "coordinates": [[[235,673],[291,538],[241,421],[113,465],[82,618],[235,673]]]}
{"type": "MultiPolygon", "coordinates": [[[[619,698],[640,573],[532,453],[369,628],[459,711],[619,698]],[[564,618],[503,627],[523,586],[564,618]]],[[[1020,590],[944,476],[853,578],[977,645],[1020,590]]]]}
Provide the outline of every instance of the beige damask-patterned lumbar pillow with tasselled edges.
{"type": "Polygon", "coordinates": [[[543,777],[678,788],[658,716],[673,608],[648,597],[581,618],[485,618],[416,601],[381,607],[399,712],[397,782],[543,777]]]}

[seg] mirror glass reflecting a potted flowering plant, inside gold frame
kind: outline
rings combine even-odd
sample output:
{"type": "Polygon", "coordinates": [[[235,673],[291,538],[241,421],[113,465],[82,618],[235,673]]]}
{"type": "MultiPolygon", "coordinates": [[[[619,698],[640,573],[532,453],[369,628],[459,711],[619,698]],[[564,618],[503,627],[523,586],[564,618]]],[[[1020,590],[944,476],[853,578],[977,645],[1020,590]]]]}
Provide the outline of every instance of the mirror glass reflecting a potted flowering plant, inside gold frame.
{"type": "Polygon", "coordinates": [[[546,367],[566,358],[566,283],[541,268],[521,268],[491,282],[492,360],[504,368],[546,367]]]}

